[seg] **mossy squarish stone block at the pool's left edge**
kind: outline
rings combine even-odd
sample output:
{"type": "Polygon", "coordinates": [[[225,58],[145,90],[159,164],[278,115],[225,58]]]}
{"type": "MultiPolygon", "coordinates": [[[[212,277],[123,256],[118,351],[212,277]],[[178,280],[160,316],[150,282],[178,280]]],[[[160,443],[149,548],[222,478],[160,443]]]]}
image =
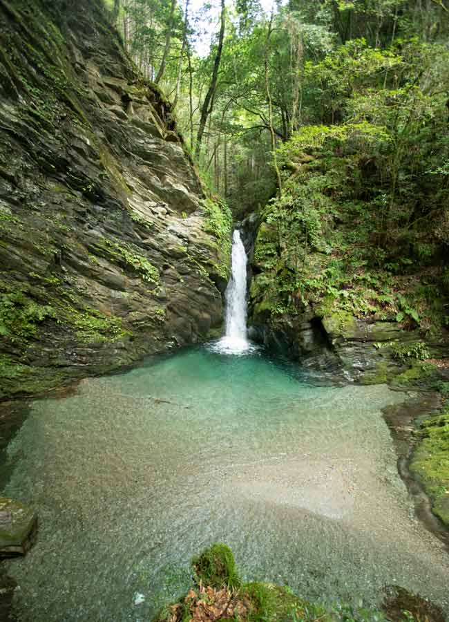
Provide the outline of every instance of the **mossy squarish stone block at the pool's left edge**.
{"type": "Polygon", "coordinates": [[[25,555],[36,529],[35,511],[15,499],[0,497],[0,557],[25,555]]]}

